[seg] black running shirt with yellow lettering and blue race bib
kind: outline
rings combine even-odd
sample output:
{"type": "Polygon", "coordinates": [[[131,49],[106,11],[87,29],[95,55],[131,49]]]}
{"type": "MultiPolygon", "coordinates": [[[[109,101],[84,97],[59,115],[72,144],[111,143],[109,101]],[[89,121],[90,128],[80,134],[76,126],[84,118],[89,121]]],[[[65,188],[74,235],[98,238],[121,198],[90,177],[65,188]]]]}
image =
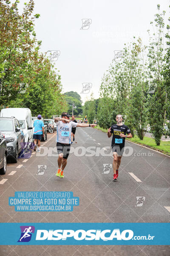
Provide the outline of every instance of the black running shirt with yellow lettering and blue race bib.
{"type": "Polygon", "coordinates": [[[111,146],[125,147],[125,138],[120,137],[120,134],[130,134],[130,129],[126,125],[112,125],[111,133],[113,134],[111,146]]]}

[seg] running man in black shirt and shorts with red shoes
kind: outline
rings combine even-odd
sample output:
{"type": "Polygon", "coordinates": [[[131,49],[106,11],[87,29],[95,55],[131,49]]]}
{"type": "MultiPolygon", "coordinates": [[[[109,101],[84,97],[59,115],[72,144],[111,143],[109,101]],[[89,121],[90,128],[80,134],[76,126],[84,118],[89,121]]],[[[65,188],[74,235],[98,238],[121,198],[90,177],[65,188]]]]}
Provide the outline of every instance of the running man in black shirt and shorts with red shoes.
{"type": "Polygon", "coordinates": [[[119,173],[119,166],[121,163],[122,154],[125,147],[125,138],[132,138],[130,129],[122,124],[122,115],[116,116],[117,124],[112,125],[108,129],[108,137],[112,137],[111,147],[113,152],[113,180],[116,181],[119,173]],[[125,135],[128,134],[128,135],[125,135]]]}

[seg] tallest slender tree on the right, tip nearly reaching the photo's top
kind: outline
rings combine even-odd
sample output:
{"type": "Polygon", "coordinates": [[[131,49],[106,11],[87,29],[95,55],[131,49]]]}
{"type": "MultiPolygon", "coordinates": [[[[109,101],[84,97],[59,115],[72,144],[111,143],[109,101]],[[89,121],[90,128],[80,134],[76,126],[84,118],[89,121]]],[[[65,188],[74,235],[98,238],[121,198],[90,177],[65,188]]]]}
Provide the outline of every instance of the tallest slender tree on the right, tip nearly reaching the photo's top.
{"type": "MultiPolygon", "coordinates": [[[[157,5],[158,11],[160,5],[157,5]]],[[[164,70],[164,14],[158,13],[155,15],[155,29],[156,32],[150,38],[150,45],[148,47],[148,76],[156,83],[155,92],[150,97],[148,104],[149,109],[149,123],[156,141],[156,145],[160,145],[161,136],[163,133],[163,124],[165,121],[167,92],[164,86],[163,70],[164,70]]],[[[151,22],[153,24],[153,22],[151,22]]]]}

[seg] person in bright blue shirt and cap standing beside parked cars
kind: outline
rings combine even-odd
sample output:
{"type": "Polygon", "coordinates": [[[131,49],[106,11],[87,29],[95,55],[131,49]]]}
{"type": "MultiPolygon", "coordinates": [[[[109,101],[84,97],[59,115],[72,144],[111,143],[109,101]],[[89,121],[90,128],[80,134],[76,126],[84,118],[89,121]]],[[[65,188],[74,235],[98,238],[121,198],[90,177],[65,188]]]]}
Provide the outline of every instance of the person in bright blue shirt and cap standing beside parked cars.
{"type": "Polygon", "coordinates": [[[37,152],[40,152],[40,141],[41,136],[44,137],[44,123],[41,120],[41,115],[37,116],[37,120],[34,121],[34,151],[37,149],[37,141],[38,141],[38,149],[37,152]]]}

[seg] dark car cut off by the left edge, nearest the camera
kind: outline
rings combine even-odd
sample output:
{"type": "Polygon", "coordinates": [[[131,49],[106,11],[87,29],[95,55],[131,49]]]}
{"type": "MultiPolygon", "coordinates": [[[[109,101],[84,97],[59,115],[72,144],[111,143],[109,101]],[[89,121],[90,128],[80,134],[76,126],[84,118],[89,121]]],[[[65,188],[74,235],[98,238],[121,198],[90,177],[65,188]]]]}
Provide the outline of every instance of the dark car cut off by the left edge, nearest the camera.
{"type": "Polygon", "coordinates": [[[0,131],[0,175],[6,174],[7,146],[5,135],[0,131]]]}

